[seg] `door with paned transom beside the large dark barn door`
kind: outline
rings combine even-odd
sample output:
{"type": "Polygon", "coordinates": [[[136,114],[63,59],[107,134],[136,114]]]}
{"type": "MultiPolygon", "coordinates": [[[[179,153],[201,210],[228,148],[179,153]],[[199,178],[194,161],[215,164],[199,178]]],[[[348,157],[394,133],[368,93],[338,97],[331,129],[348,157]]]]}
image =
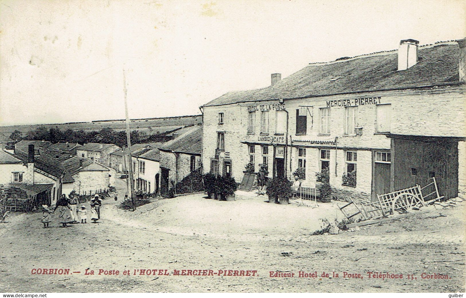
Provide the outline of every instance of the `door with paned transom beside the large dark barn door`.
{"type": "Polygon", "coordinates": [[[375,152],[373,173],[372,201],[377,201],[377,194],[390,193],[390,152],[375,152]]]}

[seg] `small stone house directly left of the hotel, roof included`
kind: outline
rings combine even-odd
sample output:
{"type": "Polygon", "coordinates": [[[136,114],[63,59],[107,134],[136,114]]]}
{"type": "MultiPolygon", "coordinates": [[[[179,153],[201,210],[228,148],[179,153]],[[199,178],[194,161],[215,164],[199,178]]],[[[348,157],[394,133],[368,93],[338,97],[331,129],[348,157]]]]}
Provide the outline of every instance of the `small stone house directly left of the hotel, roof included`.
{"type": "Polygon", "coordinates": [[[172,187],[201,167],[202,126],[192,126],[159,150],[160,194],[167,197],[172,187]]]}

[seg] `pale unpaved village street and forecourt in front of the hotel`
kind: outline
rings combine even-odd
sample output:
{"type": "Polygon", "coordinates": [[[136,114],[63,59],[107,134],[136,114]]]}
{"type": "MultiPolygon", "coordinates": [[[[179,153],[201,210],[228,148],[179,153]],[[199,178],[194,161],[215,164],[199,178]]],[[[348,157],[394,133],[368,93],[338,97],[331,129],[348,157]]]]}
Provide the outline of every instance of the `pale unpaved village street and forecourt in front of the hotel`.
{"type": "Polygon", "coordinates": [[[118,202],[104,200],[97,224],[58,228],[54,214],[51,227],[43,229],[41,213],[12,215],[0,224],[0,291],[465,291],[464,202],[368,229],[310,236],[310,222],[319,222],[316,213],[331,217],[336,215],[333,208],[220,202],[192,194],[155,201],[133,213],[116,208],[123,199],[123,181],[117,187],[118,202]],[[34,275],[34,268],[81,273],[34,275]],[[86,269],[95,275],[84,275],[86,269]],[[99,269],[119,270],[119,275],[98,275],[99,269]],[[137,269],[168,270],[170,275],[133,275],[137,269]],[[130,275],[123,275],[124,270],[130,275]],[[176,276],[173,270],[257,273],[176,276]],[[317,271],[319,277],[298,277],[300,270],[317,271]],[[295,276],[270,277],[269,271],[295,276]],[[329,277],[320,277],[323,271],[329,277]],[[333,271],[338,278],[332,278],[333,271]],[[363,278],[345,278],[343,271],[363,278]],[[368,271],[403,278],[368,278],[368,271]],[[423,273],[448,279],[425,279],[423,273]]]}

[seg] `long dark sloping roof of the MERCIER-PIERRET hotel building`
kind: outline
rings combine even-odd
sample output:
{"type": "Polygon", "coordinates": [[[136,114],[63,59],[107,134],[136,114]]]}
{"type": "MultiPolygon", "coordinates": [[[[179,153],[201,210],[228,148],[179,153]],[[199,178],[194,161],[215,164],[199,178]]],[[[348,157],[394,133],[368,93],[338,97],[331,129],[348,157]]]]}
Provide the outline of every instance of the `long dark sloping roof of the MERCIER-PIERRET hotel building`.
{"type": "Polygon", "coordinates": [[[204,106],[459,82],[456,42],[419,47],[418,63],[403,71],[397,71],[397,53],[393,50],[309,64],[272,86],[228,92],[204,106]]]}

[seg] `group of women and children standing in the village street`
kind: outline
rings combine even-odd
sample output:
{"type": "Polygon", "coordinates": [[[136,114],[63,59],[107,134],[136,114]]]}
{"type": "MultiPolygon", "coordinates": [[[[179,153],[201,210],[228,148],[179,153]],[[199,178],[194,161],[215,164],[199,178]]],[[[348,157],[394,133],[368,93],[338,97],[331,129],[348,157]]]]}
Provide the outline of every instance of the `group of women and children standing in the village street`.
{"type": "MultiPolygon", "coordinates": [[[[90,201],[91,220],[93,223],[96,223],[100,219],[100,206],[102,206],[102,199],[96,194],[90,201]]],[[[65,194],[62,194],[54,209],[48,205],[42,205],[42,208],[42,223],[44,224],[44,228],[48,228],[48,224],[51,222],[50,214],[54,213],[57,208],[59,208],[59,218],[63,227],[69,227],[68,223],[77,223],[78,218],[81,220],[81,223],[87,223],[87,208],[84,205],[79,207],[79,201],[73,194],[69,195],[69,199],[65,194]]]]}

